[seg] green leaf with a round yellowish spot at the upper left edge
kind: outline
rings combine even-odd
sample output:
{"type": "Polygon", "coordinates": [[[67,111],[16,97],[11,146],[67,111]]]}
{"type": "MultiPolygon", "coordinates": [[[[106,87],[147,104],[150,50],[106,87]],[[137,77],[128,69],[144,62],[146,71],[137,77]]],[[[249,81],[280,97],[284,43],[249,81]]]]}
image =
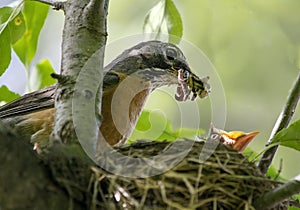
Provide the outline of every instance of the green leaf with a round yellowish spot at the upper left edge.
{"type": "Polygon", "coordinates": [[[20,5],[16,8],[0,8],[0,76],[9,66],[11,44],[16,42],[25,31],[25,21],[20,8],[20,5]]]}

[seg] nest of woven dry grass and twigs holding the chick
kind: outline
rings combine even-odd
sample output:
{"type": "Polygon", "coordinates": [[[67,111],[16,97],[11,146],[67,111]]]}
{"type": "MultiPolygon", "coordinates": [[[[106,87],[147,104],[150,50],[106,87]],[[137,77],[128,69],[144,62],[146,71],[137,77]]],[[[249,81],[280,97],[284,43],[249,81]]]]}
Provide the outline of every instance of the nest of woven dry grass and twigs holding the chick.
{"type": "Polygon", "coordinates": [[[254,209],[255,199],[280,184],[222,144],[202,161],[199,153],[204,143],[195,142],[188,149],[188,142],[178,141],[169,153],[170,142],[138,142],[102,156],[104,168],[127,177],[92,167],[92,209],[254,209]],[[186,156],[178,162],[185,149],[186,156]],[[164,152],[163,159],[154,161],[159,166],[150,170],[147,158],[159,158],[164,152]],[[120,153],[124,156],[117,155],[120,153]],[[170,167],[160,173],[160,166],[170,167]]]}

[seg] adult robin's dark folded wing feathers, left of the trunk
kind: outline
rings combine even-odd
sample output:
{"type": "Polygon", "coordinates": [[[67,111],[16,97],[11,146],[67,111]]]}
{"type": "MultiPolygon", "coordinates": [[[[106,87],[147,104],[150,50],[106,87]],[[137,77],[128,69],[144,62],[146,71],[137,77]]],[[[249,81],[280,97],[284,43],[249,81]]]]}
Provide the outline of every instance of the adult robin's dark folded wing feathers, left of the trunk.
{"type": "Polygon", "coordinates": [[[54,107],[56,85],[25,94],[15,101],[0,107],[0,118],[29,114],[54,107]]]}

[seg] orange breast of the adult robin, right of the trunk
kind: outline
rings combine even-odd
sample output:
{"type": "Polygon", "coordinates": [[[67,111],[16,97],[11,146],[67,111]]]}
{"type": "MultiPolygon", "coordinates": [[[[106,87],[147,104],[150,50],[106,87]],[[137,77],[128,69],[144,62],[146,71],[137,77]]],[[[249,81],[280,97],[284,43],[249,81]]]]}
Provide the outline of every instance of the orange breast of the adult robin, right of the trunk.
{"type": "Polygon", "coordinates": [[[123,143],[130,136],[151,92],[149,87],[139,78],[126,77],[118,86],[103,92],[99,135],[110,145],[123,143]]]}

